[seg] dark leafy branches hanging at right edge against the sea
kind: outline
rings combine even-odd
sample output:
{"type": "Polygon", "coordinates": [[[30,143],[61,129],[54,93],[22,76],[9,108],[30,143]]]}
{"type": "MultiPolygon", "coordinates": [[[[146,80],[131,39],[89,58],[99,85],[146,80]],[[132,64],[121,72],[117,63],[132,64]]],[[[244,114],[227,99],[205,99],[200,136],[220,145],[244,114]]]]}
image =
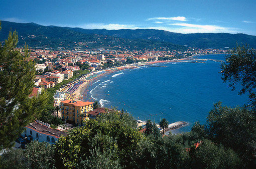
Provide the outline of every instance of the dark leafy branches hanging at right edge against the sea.
{"type": "Polygon", "coordinates": [[[238,46],[226,55],[226,62],[221,64],[222,80],[229,82],[235,90],[241,86],[239,95],[249,93],[253,105],[256,103],[256,51],[246,46],[238,46]]]}

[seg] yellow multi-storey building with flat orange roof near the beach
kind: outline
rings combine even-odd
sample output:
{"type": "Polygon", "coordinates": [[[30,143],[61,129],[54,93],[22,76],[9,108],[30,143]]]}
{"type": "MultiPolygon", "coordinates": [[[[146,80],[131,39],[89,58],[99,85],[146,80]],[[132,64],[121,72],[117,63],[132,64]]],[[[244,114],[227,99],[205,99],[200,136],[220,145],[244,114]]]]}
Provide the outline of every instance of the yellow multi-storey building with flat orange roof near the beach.
{"type": "Polygon", "coordinates": [[[75,101],[64,100],[61,101],[61,115],[62,118],[69,123],[81,125],[82,121],[88,120],[88,111],[92,111],[93,102],[89,101],[75,101]]]}

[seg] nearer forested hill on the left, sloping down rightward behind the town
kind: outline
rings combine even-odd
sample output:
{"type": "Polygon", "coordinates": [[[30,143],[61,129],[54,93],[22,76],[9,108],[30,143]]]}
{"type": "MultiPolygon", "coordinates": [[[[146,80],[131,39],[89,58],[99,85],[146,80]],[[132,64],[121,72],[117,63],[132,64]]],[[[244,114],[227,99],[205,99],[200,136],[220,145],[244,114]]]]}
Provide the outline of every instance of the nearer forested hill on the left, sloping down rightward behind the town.
{"type": "Polygon", "coordinates": [[[13,23],[1,21],[0,42],[7,39],[9,31],[17,31],[19,36],[18,46],[29,47],[81,47],[84,49],[163,49],[183,51],[186,47],[170,42],[156,42],[152,40],[129,40],[108,35],[87,34],[67,28],[56,26],[42,26],[35,23],[13,23]]]}

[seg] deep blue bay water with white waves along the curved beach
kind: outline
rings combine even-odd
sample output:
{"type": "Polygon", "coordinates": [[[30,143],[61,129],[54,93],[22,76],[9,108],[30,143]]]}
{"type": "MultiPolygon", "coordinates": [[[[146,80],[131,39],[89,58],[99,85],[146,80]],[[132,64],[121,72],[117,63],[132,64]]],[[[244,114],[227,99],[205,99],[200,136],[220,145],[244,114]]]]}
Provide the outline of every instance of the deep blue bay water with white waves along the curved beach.
{"type": "MultiPolygon", "coordinates": [[[[224,54],[199,55],[193,58],[225,60],[224,54]]],[[[191,130],[196,121],[206,123],[208,112],[218,101],[235,107],[248,104],[247,94],[238,95],[223,83],[219,73],[221,62],[169,62],[125,69],[97,79],[88,88],[92,99],[101,106],[126,110],[136,119],[151,119],[156,123],[166,118],[169,124],[186,121],[189,124],[172,133],[191,130]]],[[[88,100],[88,98],[84,98],[88,100]]]]}

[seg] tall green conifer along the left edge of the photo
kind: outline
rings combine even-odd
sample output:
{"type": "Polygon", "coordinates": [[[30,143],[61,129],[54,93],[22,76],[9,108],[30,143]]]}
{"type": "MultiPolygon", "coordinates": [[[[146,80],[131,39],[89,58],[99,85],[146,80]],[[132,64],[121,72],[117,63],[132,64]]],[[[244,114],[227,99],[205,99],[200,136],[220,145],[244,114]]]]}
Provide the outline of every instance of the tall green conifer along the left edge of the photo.
{"type": "Polygon", "coordinates": [[[24,126],[36,119],[46,103],[46,93],[29,98],[32,93],[36,69],[29,60],[28,47],[24,55],[15,50],[16,32],[0,44],[0,149],[11,147],[23,132],[24,126]]]}

